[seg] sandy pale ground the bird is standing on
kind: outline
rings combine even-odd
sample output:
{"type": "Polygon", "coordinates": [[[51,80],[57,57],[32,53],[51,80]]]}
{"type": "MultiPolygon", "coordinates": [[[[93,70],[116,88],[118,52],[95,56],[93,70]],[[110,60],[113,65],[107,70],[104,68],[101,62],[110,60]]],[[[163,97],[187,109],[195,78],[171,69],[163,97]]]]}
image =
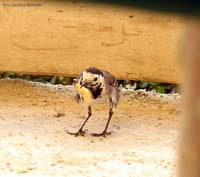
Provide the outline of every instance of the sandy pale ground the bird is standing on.
{"type": "Polygon", "coordinates": [[[0,80],[0,176],[176,176],[180,96],[123,91],[111,121],[95,105],[85,137],[76,131],[86,110],[70,86],[0,80]]]}

